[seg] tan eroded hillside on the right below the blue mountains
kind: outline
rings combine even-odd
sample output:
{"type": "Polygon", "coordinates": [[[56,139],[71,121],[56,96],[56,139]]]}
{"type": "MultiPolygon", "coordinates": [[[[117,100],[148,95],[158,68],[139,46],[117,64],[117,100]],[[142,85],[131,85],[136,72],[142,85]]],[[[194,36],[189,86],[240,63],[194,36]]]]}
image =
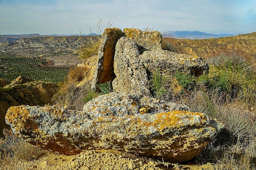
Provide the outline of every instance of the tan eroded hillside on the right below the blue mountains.
{"type": "Polygon", "coordinates": [[[211,54],[222,50],[237,50],[246,54],[247,58],[256,58],[256,32],[232,37],[210,38],[201,40],[164,38],[171,42],[177,52],[208,58],[211,54]]]}

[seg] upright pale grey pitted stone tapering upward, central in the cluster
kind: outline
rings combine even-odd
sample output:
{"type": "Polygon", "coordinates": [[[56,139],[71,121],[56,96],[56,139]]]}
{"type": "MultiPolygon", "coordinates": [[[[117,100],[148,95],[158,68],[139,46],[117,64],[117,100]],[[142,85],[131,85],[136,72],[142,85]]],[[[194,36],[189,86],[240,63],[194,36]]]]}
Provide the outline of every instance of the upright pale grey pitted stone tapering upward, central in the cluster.
{"type": "Polygon", "coordinates": [[[114,92],[151,96],[146,69],[140,61],[137,43],[127,37],[118,40],[114,58],[114,92]]]}

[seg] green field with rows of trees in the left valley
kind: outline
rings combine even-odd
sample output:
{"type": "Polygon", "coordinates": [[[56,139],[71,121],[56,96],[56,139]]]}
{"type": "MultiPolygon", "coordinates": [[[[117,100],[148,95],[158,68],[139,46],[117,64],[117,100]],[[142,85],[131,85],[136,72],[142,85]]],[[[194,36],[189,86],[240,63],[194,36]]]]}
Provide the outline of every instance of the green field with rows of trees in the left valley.
{"type": "Polygon", "coordinates": [[[10,54],[0,55],[0,78],[12,81],[25,76],[35,81],[58,83],[63,81],[69,69],[42,68],[43,61],[38,58],[18,57],[10,54]]]}

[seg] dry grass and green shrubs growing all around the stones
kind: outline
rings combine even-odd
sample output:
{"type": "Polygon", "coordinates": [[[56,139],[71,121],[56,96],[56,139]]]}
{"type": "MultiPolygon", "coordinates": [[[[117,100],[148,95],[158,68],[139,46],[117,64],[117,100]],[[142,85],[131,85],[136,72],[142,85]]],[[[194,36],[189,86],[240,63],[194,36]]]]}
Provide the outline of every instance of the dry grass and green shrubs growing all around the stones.
{"type": "MultiPolygon", "coordinates": [[[[97,48],[92,45],[86,48],[91,50],[90,54],[97,53],[97,48]]],[[[163,49],[176,51],[171,42],[164,40],[163,49]]],[[[82,58],[90,57],[86,50],[83,54],[82,58]]],[[[198,165],[212,163],[227,170],[256,169],[255,63],[234,50],[220,51],[205,60],[210,65],[207,75],[153,74],[150,87],[154,97],[186,104],[192,112],[204,112],[225,123],[224,130],[191,162],[198,165]]],[[[90,90],[90,81],[77,86],[87,71],[84,67],[70,69],[66,80],[59,83],[60,90],[54,99],[56,105],[82,110],[83,104],[92,98],[111,92],[111,83],[99,85],[100,92],[90,90]]],[[[15,160],[31,161],[44,154],[49,153],[4,130],[4,138],[0,139],[1,166],[15,160]]]]}

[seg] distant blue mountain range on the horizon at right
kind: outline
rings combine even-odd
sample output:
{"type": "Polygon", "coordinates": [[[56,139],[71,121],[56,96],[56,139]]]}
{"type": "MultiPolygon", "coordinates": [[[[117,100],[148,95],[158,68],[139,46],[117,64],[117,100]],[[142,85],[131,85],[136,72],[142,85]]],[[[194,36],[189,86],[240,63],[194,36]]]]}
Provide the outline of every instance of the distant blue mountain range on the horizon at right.
{"type": "Polygon", "coordinates": [[[185,38],[185,39],[209,39],[209,38],[220,38],[227,36],[235,36],[234,34],[208,34],[200,31],[166,31],[162,33],[163,36],[170,38],[185,38]]]}

